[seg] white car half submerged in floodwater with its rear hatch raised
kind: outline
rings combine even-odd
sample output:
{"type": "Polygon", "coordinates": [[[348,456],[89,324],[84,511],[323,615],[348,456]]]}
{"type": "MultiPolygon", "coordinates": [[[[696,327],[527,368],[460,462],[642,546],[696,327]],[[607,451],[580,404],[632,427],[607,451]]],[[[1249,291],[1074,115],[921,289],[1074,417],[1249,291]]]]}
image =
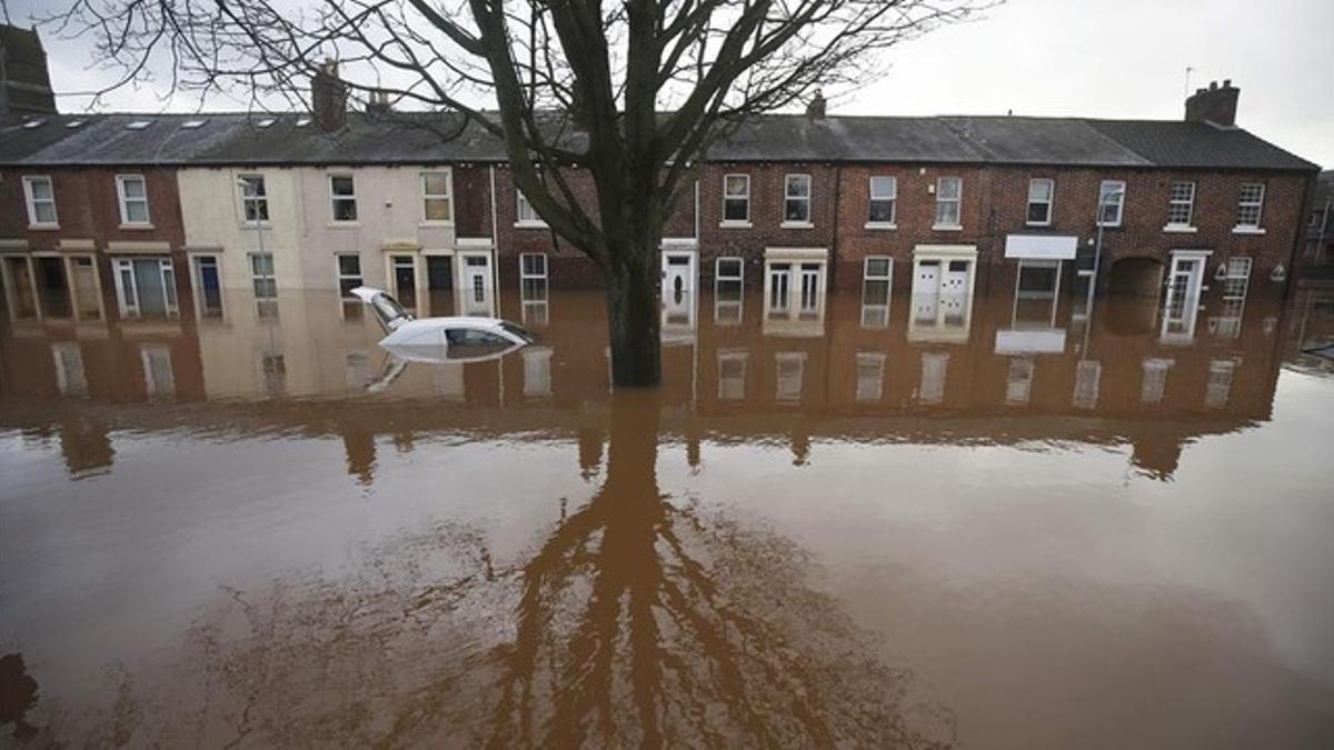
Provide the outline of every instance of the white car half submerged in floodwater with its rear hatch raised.
{"type": "Polygon", "coordinates": [[[531,344],[523,326],[499,318],[414,318],[384,290],[352,290],[384,328],[380,346],[407,362],[483,362],[531,344]]]}

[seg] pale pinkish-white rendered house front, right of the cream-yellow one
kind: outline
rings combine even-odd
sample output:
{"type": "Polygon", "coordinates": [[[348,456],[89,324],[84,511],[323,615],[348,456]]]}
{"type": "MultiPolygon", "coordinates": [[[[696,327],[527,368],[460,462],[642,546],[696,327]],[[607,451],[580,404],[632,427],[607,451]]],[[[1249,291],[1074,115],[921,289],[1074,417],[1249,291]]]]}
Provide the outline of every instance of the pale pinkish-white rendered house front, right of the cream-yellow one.
{"type": "MultiPolygon", "coordinates": [[[[336,287],[335,254],[359,254],[362,278],[375,287],[388,286],[387,248],[418,256],[419,287],[426,283],[423,254],[452,255],[454,222],[426,222],[422,200],[422,173],[450,173],[448,167],[301,167],[293,172],[301,218],[297,246],[307,288],[336,287]],[[329,177],[335,175],[350,175],[355,181],[356,222],[334,222],[329,177]]],[[[452,184],[450,195],[452,199],[452,184]]]]}

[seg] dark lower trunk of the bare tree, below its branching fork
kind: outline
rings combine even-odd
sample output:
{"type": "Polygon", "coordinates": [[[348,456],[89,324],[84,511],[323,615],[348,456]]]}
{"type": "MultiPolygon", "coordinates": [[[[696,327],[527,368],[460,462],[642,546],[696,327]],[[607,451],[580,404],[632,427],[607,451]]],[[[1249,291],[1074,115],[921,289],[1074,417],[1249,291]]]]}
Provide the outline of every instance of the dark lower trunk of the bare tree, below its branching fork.
{"type": "Polygon", "coordinates": [[[658,239],[652,231],[627,238],[606,271],[611,383],[652,387],[662,379],[658,239]]]}

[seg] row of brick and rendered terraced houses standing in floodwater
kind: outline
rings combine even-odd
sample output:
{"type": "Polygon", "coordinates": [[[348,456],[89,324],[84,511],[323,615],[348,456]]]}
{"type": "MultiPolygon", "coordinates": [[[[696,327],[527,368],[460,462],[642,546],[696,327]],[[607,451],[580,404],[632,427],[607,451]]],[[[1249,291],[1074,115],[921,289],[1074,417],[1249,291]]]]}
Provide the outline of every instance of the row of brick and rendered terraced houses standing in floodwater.
{"type": "MultiPolygon", "coordinates": [[[[225,316],[227,290],[263,308],[358,284],[422,314],[492,314],[502,290],[598,283],[476,123],[348,112],[334,71],[313,85],[311,113],[0,120],[11,319],[225,316]]],[[[1283,294],[1317,167],[1237,127],[1238,93],[1202,88],[1179,121],[850,117],[822,101],[760,117],[710,149],[676,206],[664,306],[759,288],[766,316],[799,322],[860,288],[943,318],[975,292],[1055,298],[1095,272],[1169,308],[1283,294]]]]}

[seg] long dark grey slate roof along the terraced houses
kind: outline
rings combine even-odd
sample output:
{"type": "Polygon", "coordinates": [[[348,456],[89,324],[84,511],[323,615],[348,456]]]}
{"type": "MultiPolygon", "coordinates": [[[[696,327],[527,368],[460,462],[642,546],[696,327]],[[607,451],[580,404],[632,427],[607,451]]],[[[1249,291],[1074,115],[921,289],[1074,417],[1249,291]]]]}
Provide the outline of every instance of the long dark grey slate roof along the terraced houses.
{"type": "MultiPolygon", "coordinates": [[[[499,139],[459,115],[350,112],[325,133],[307,115],[47,115],[0,119],[0,164],[247,165],[500,163],[499,139]],[[31,120],[31,119],[29,119],[31,120]],[[65,127],[81,120],[77,128],[65,127]],[[197,128],[183,127],[201,120],[197,128]],[[127,125],[147,121],[143,129],[127,125]],[[269,121],[267,127],[261,123],[269,121]]],[[[578,136],[572,144],[578,144],[578,136]]],[[[1033,164],[1099,168],[1315,171],[1239,129],[1153,120],[935,116],[758,117],[714,144],[712,161],[1033,164]]]]}

